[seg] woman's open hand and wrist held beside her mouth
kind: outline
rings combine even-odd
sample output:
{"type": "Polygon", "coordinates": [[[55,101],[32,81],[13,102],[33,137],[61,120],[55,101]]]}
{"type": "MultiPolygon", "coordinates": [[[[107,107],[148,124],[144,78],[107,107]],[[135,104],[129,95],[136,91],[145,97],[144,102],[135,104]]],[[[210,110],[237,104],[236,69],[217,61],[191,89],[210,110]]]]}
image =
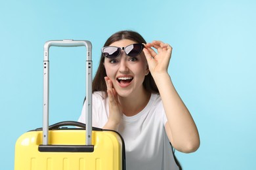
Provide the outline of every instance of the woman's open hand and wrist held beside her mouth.
{"type": "Polygon", "coordinates": [[[108,105],[109,105],[109,116],[108,122],[105,124],[103,129],[117,130],[119,123],[121,121],[121,108],[119,105],[116,90],[113,88],[112,81],[108,76],[105,76],[105,82],[107,86],[108,93],[108,105]]]}

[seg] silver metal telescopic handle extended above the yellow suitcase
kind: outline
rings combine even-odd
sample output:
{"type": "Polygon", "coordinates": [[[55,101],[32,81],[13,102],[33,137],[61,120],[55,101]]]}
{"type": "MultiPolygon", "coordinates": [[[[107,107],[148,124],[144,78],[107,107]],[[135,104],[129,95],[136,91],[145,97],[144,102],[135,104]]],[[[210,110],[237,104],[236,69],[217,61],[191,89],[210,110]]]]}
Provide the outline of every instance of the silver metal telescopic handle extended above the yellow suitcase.
{"type": "Polygon", "coordinates": [[[92,135],[92,44],[90,41],[57,40],[45,42],[43,52],[43,145],[49,143],[49,48],[51,46],[85,46],[86,59],[86,145],[91,145],[92,135]]]}

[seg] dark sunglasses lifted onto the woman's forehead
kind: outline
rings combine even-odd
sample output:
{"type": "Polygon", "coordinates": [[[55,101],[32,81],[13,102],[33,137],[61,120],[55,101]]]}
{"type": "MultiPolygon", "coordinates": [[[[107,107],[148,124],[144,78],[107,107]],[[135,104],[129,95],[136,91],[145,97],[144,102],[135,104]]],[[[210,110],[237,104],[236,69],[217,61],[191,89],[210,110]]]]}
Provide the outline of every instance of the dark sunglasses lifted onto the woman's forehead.
{"type": "Polygon", "coordinates": [[[143,44],[130,44],[125,47],[117,47],[117,46],[105,46],[101,49],[102,54],[106,58],[117,58],[121,53],[121,50],[125,51],[125,54],[130,57],[138,56],[144,48],[143,44]]]}

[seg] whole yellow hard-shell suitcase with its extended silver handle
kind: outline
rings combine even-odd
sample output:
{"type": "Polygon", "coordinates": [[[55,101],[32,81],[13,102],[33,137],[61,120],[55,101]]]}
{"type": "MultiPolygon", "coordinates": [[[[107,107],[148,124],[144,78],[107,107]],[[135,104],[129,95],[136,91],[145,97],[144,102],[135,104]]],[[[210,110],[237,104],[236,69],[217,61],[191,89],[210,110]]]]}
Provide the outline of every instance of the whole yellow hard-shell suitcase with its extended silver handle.
{"type": "Polygon", "coordinates": [[[47,41],[43,61],[43,128],[21,135],[15,145],[15,170],[125,169],[125,146],[116,131],[92,127],[92,58],[89,41],[47,41]],[[49,126],[49,48],[86,46],[87,122],[59,122],[49,126]],[[74,128],[60,128],[75,126],[74,128]],[[86,130],[85,130],[86,129],[86,130]]]}

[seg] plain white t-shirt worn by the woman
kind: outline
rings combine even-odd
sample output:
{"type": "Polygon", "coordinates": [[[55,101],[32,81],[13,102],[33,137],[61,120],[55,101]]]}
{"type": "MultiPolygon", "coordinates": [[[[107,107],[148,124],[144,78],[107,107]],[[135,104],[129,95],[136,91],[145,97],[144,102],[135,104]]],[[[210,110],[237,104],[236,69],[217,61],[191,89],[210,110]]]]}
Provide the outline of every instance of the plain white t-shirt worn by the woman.
{"type": "MultiPolygon", "coordinates": [[[[102,128],[108,121],[108,97],[93,93],[93,126],[102,128]]],[[[79,122],[86,122],[85,105],[79,122]]],[[[146,107],[135,116],[125,116],[117,131],[125,141],[127,170],[176,170],[169,139],[165,133],[167,118],[158,94],[152,93],[146,107]]]]}

